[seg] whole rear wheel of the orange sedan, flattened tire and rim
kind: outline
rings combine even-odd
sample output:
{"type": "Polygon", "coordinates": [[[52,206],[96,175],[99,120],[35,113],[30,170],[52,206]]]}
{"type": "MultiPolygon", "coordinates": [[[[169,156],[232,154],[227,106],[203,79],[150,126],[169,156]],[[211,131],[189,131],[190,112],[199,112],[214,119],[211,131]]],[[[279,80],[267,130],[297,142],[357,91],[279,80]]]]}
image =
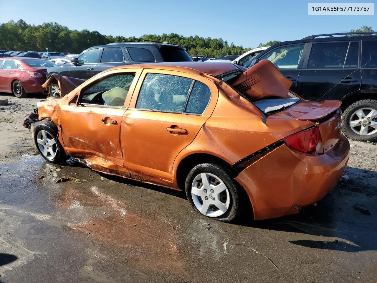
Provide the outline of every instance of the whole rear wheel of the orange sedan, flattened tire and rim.
{"type": "Polygon", "coordinates": [[[230,222],[241,212],[239,188],[222,166],[196,165],[187,175],[185,191],[192,208],[207,217],[230,222]]]}

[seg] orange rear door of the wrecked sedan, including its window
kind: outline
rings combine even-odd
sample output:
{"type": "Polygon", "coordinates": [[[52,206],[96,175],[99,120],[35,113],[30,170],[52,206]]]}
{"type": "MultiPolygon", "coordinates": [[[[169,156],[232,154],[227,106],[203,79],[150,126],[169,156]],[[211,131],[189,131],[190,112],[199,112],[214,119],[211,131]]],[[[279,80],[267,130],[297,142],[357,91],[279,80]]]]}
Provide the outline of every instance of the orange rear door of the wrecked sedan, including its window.
{"type": "Polygon", "coordinates": [[[212,82],[191,74],[179,77],[145,70],[144,75],[130,103],[134,108],[127,110],[122,121],[124,167],[157,183],[171,182],[176,156],[210,117],[213,108],[207,105],[211,92],[217,101],[218,91],[212,82]]]}

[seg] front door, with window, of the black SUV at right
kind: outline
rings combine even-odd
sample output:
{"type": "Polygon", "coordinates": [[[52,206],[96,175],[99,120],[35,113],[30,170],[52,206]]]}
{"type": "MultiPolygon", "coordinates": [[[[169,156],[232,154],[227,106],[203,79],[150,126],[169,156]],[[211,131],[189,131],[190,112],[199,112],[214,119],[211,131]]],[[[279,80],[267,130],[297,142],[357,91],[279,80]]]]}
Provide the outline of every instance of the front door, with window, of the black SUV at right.
{"type": "Polygon", "coordinates": [[[257,61],[270,60],[285,77],[292,81],[291,91],[296,92],[297,79],[308,43],[279,46],[262,55],[257,61]]]}

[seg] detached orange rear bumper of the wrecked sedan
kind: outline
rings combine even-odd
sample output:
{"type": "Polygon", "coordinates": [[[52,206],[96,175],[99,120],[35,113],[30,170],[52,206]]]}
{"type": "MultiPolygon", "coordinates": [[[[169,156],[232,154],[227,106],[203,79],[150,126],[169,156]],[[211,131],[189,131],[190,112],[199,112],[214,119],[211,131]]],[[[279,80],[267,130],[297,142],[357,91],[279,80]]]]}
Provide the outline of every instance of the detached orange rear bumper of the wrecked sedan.
{"type": "Polygon", "coordinates": [[[307,156],[285,144],[260,158],[235,180],[247,191],[254,219],[299,212],[323,198],[342,178],[349,158],[349,143],[342,134],[331,152],[307,156]]]}

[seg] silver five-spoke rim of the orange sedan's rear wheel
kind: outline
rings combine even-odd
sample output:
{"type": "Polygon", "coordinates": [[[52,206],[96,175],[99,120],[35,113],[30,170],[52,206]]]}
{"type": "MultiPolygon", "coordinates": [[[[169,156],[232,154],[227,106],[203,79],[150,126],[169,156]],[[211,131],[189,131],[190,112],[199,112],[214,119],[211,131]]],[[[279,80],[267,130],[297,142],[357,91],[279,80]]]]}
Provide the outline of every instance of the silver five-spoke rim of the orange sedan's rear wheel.
{"type": "Polygon", "coordinates": [[[196,208],[208,217],[223,215],[230,205],[227,186],[211,173],[201,173],[193,179],[191,196],[196,208]]]}

